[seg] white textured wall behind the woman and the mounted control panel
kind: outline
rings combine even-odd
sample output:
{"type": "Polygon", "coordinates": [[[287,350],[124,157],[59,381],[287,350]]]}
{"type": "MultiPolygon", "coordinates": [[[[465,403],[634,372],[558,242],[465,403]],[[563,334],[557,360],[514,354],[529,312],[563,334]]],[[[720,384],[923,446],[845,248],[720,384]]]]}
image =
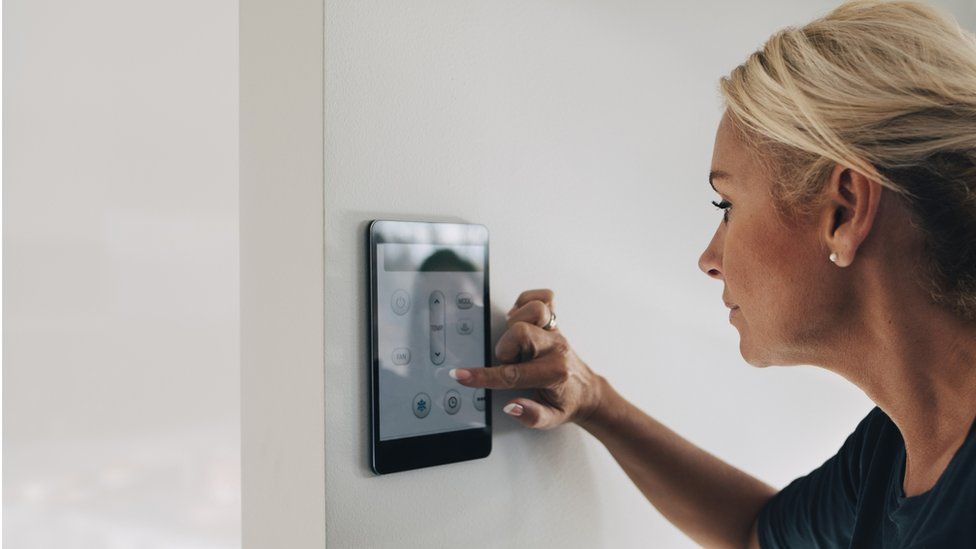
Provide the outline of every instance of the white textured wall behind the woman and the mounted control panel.
{"type": "MultiPolygon", "coordinates": [[[[836,451],[870,402],[820,370],[747,365],[721,283],[697,267],[720,217],[706,182],[718,78],[833,5],[327,0],[331,547],[693,546],[584,431],[501,413],[511,393],[494,398],[488,458],[371,474],[373,218],[486,224],[496,313],[553,288],[592,368],[760,478],[782,486],[836,451]]],[[[972,22],[970,2],[956,8],[972,22]]]]}

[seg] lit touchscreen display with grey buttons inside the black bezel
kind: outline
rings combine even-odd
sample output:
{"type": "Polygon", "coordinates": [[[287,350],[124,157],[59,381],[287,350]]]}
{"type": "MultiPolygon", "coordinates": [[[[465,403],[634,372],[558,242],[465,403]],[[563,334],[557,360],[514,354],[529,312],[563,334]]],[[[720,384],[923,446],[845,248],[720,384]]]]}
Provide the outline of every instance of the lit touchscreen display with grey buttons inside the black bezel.
{"type": "Polygon", "coordinates": [[[482,367],[485,247],[376,245],[379,438],[485,427],[485,390],[447,372],[482,367]]]}

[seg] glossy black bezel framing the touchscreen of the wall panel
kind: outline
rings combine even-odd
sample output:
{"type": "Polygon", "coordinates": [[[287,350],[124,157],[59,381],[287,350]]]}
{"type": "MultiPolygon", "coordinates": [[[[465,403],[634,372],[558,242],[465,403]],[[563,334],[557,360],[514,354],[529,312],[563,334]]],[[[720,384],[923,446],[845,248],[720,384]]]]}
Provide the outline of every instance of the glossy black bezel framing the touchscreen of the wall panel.
{"type": "MultiPolygon", "coordinates": [[[[411,231],[412,234],[416,232],[411,231]]],[[[376,245],[383,242],[404,244],[475,244],[485,247],[485,293],[484,293],[484,326],[485,326],[485,366],[491,365],[491,307],[489,300],[488,276],[488,228],[484,225],[466,223],[440,223],[418,221],[395,221],[377,219],[369,224],[367,231],[367,248],[369,255],[369,370],[370,370],[370,468],[376,474],[395,473],[433,465],[443,465],[458,461],[479,459],[491,453],[491,390],[485,390],[485,426],[480,429],[464,429],[447,433],[435,433],[410,438],[399,438],[387,441],[379,440],[379,343],[377,337],[377,280],[376,280],[376,245]],[[434,238],[417,240],[393,237],[382,231],[384,224],[424,225],[434,229],[434,238]],[[481,238],[470,237],[451,238],[445,234],[448,230],[458,227],[477,229],[481,238]]]]}

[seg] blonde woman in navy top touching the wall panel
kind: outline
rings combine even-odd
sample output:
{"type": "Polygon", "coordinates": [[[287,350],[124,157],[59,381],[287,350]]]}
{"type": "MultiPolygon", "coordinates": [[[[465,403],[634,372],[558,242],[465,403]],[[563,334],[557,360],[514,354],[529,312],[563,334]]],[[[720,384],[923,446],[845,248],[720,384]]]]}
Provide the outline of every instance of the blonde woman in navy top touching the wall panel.
{"type": "Polygon", "coordinates": [[[506,413],[575,422],[696,542],[976,547],[976,40],[932,8],[853,2],[773,35],[721,81],[700,259],[754,366],[814,364],[876,404],[839,452],[776,491],[625,401],[523,293],[506,413]]]}

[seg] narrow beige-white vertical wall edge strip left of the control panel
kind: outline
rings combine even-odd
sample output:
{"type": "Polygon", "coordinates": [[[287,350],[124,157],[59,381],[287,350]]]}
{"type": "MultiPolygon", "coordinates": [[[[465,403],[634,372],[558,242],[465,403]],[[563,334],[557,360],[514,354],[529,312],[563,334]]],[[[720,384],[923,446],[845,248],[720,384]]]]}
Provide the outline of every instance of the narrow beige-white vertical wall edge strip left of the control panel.
{"type": "Polygon", "coordinates": [[[325,545],[321,0],[242,0],[244,546],[325,545]]]}

